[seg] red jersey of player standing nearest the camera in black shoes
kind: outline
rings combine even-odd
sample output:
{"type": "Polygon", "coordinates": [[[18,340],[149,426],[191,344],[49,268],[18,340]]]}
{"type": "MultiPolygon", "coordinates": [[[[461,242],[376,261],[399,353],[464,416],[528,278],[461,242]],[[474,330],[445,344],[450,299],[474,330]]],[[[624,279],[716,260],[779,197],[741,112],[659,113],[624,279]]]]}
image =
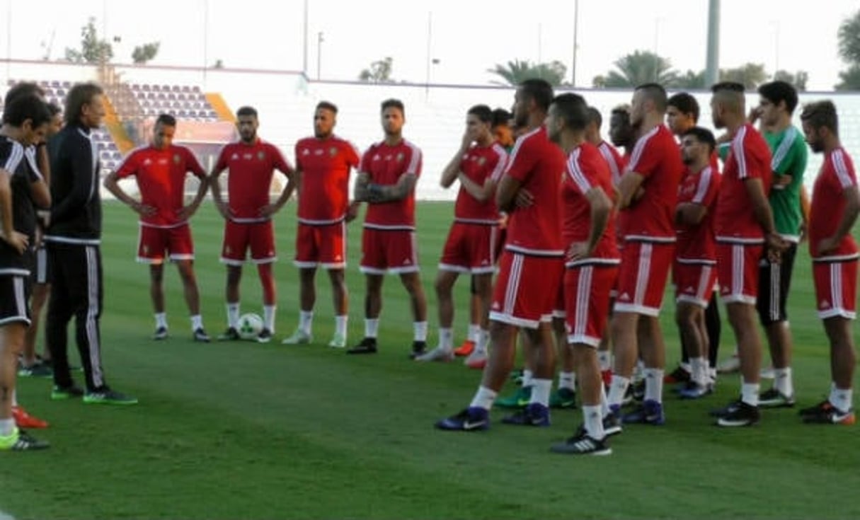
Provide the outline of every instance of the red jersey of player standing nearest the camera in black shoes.
{"type": "MultiPolygon", "coordinates": [[[[588,202],[587,193],[593,189],[602,189],[610,200],[616,199],[612,174],[604,157],[596,146],[583,143],[570,152],[562,180],[562,240],[565,247],[569,247],[573,242],[586,242],[591,234],[591,204],[588,202]]],[[[593,254],[568,266],[620,262],[613,210],[593,254]]]]}

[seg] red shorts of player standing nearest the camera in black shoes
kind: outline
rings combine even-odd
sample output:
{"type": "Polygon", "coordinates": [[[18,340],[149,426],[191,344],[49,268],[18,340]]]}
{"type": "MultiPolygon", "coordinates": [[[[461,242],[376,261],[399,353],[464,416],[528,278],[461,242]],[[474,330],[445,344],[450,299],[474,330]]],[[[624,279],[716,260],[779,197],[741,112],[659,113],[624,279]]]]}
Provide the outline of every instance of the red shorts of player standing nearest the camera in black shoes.
{"type": "Polygon", "coordinates": [[[609,291],[618,266],[587,265],[564,271],[564,311],[568,344],[597,347],[609,321],[609,291]]]}

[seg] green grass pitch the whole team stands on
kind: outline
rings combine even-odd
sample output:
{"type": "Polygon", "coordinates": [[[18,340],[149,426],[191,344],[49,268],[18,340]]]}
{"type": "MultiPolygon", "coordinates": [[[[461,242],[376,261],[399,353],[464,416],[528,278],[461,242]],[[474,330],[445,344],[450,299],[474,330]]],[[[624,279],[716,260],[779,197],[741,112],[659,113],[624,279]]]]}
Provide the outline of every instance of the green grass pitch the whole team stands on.
{"type": "MultiPolygon", "coordinates": [[[[488,432],[434,431],[434,420],[468,404],[479,374],[459,363],[408,361],[411,316],[396,278],[384,289],[377,356],[325,346],[334,320],[322,277],[316,344],[280,345],[298,319],[293,215],[288,205],[277,223],[273,343],[193,343],[175,272],[166,280],[172,337],[156,343],[146,268],[132,260],[137,223],[126,208],[105,205],[104,362],[108,381],[138,395],[140,405],[50,401],[49,380],[22,380],[22,403],[52,422],[38,432],[52,449],[0,456],[0,517],[860,517],[860,500],[851,499],[860,488],[857,427],[802,425],[794,410],[777,410],[753,428],[717,429],[707,410],[736,395],[736,376],[723,377],[704,401],[676,401],[667,392],[667,425],[626,428],[609,457],[550,454],[550,444],[580,423],[574,411],[554,413],[546,429],[501,425],[494,412],[488,432]]],[[[450,204],[419,205],[431,344],[433,277],[450,216],[450,204]]],[[[213,335],[224,327],[221,232],[220,217],[205,205],[194,217],[196,267],[213,335]]],[[[363,333],[359,223],[349,233],[354,342],[363,333]]],[[[458,284],[458,341],[467,287],[458,284]]],[[[255,272],[246,270],[243,312],[261,312],[259,302],[255,272]]],[[[830,380],[805,248],[789,303],[796,391],[808,406],[830,380]]],[[[670,369],[678,358],[671,307],[663,317],[670,369]]],[[[733,346],[724,325],[725,355],[733,346]]]]}

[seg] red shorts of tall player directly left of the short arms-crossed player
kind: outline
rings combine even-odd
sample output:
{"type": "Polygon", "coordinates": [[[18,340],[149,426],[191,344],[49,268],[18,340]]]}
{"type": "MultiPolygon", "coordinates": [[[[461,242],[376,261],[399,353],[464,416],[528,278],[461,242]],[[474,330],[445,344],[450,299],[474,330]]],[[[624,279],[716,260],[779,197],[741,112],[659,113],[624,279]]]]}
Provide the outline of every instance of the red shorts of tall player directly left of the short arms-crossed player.
{"type": "Polygon", "coordinates": [[[624,242],[615,311],[660,315],[674,254],[673,242],[624,242]]]}

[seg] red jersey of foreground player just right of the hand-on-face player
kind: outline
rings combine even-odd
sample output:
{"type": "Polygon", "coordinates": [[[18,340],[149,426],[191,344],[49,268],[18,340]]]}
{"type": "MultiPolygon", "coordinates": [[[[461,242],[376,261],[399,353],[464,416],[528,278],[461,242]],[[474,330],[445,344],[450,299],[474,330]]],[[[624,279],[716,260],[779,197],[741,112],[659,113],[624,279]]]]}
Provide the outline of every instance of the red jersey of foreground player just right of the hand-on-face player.
{"type": "Polygon", "coordinates": [[[511,211],[505,248],[524,254],[562,256],[560,188],[564,153],[550,143],[544,126],[517,139],[505,174],[519,180],[520,186],[534,197],[534,204],[511,211]]]}

